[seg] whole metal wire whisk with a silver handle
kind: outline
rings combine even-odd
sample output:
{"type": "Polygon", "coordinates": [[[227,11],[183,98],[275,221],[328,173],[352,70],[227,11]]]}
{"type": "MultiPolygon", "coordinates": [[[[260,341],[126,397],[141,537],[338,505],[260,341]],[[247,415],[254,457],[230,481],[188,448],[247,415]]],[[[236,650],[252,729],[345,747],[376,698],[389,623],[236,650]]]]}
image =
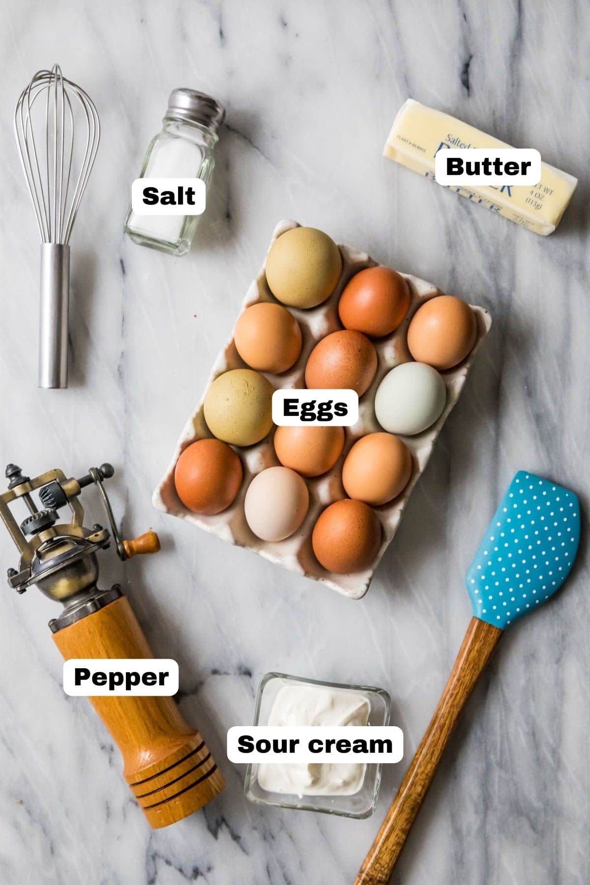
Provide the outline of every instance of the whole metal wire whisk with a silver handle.
{"type": "Polygon", "coordinates": [[[100,121],[86,92],[53,65],[23,89],[14,135],[42,242],[39,387],[66,388],[69,242],[96,158],[100,121]],[[76,126],[81,138],[74,137],[76,126]]]}

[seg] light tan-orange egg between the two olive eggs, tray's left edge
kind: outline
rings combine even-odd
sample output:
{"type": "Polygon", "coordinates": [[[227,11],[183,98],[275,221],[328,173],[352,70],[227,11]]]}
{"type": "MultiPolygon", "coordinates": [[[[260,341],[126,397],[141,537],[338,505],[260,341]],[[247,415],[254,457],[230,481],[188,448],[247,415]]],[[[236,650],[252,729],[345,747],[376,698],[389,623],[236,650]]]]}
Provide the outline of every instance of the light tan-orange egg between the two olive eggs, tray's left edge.
{"type": "Polygon", "coordinates": [[[301,353],[299,323],[286,307],[259,302],[247,308],[234,329],[235,349],[259,372],[287,372],[301,353]]]}

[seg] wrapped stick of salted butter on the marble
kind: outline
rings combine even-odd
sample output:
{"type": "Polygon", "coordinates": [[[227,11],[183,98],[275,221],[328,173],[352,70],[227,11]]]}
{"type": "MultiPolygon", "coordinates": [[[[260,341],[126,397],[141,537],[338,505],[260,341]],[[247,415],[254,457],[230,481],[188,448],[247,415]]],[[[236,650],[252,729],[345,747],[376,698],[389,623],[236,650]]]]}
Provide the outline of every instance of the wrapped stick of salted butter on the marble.
{"type": "MultiPolygon", "coordinates": [[[[441,111],[434,111],[412,98],[402,105],[387,138],[384,155],[414,172],[434,179],[434,156],[446,148],[510,148],[492,135],[462,123],[441,111]]],[[[498,212],[535,234],[552,234],[565,212],[578,179],[560,172],[548,163],[541,164],[541,179],[529,185],[474,185],[451,187],[472,203],[498,212]]]]}

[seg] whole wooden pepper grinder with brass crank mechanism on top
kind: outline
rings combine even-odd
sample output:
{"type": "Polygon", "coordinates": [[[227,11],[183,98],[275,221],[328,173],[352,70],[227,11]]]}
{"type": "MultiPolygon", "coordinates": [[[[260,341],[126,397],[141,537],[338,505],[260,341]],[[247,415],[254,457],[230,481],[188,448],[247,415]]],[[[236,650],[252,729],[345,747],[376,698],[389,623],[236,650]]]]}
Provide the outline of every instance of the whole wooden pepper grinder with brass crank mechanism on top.
{"type": "MultiPolygon", "coordinates": [[[[69,658],[153,658],[142,627],[118,584],[98,589],[98,550],[114,541],[119,558],[160,549],[155,532],[124,541],[116,526],[103,481],[110,464],[91,467],[80,479],[50,470],[30,479],[19,467],[6,467],[8,491],[0,495],[0,517],[19,548],[19,568],[9,568],[8,583],[24,593],[35,584],[63,604],[50,630],[65,660],[69,658]],[[111,532],[84,527],[80,491],[94,483],[111,532]],[[32,493],[38,489],[39,509],[32,493]],[[21,500],[29,515],[20,525],[9,504],[21,500]],[[71,521],[57,524],[57,511],[69,507],[71,521]]],[[[225,781],[198,731],[188,726],[172,697],[96,696],[89,698],[118,745],[124,776],[151,827],[167,827],[218,796],[225,781]]]]}

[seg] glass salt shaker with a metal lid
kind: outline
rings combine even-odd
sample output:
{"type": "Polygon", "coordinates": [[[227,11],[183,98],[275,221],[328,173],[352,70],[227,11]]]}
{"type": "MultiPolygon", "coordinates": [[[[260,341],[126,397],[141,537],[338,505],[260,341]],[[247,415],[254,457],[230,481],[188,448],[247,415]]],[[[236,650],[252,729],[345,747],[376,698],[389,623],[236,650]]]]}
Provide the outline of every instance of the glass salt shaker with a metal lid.
{"type": "MultiPolygon", "coordinates": [[[[174,89],[163,127],[149,143],[140,178],[200,178],[209,184],[225,109],[194,89],[174,89]]],[[[125,232],[151,249],[184,255],[195,235],[198,215],[138,215],[131,205],[125,232]]]]}

